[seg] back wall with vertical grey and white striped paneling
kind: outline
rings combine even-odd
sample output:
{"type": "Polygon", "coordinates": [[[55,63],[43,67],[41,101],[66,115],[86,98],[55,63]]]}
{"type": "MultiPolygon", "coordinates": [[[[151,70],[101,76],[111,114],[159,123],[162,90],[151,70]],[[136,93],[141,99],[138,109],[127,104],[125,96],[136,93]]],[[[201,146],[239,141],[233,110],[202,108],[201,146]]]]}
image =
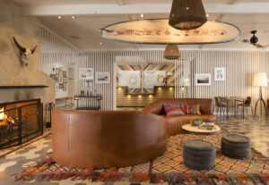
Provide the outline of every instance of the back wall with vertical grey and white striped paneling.
{"type": "MultiPolygon", "coordinates": [[[[265,71],[269,78],[269,52],[265,51],[181,51],[181,58],[174,61],[163,59],[162,51],[43,53],[41,63],[75,63],[77,94],[86,89],[85,81],[78,78],[79,68],[110,71],[110,84],[94,84],[93,87],[104,97],[103,110],[116,107],[114,66],[117,63],[174,63],[175,97],[249,96],[253,98],[253,105],[258,97],[258,88],[252,86],[254,73],[265,71]],[[215,67],[226,69],[225,81],[214,81],[215,67]],[[211,73],[212,85],[195,86],[195,73],[211,73]]],[[[263,88],[265,100],[269,98],[268,90],[263,88]]]]}

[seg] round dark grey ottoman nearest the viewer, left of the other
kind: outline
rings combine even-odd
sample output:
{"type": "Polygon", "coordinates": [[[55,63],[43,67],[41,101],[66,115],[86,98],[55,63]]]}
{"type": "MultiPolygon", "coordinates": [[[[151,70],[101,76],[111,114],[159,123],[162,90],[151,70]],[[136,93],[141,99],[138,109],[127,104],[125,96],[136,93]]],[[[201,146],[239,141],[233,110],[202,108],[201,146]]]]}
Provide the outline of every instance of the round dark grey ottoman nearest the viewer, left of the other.
{"type": "Polygon", "coordinates": [[[210,170],[215,165],[216,148],[203,140],[187,140],[183,148],[183,162],[188,168],[210,170]]]}

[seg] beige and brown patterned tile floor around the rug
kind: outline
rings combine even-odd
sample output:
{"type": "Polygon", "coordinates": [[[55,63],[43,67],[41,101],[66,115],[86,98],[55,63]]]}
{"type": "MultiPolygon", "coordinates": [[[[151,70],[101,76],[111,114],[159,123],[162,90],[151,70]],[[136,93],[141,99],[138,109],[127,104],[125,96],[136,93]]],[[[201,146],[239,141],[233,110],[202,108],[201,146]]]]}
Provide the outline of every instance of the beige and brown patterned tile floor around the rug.
{"type": "MultiPolygon", "coordinates": [[[[245,119],[231,116],[229,120],[219,118],[221,128],[230,133],[246,135],[251,139],[252,147],[269,157],[269,118],[247,116],[245,119]]],[[[46,156],[51,151],[51,139],[49,136],[31,143],[29,146],[0,157],[0,185],[22,184],[13,181],[13,174],[22,172],[29,164],[34,164],[41,156],[46,156]]],[[[60,182],[34,182],[23,184],[90,184],[89,181],[60,181],[60,182]]],[[[100,183],[96,183],[100,184],[100,183]]],[[[125,183],[128,184],[128,183],[125,183]]]]}

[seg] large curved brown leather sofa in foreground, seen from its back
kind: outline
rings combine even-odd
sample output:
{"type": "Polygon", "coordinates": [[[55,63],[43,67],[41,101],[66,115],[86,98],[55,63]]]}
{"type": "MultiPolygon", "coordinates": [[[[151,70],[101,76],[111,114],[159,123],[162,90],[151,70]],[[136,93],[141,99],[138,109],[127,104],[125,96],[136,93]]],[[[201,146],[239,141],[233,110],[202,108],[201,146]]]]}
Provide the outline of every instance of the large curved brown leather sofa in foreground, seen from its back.
{"type": "Polygon", "coordinates": [[[53,159],[72,167],[109,168],[142,164],[167,148],[163,119],[139,112],[55,109],[53,159]]]}

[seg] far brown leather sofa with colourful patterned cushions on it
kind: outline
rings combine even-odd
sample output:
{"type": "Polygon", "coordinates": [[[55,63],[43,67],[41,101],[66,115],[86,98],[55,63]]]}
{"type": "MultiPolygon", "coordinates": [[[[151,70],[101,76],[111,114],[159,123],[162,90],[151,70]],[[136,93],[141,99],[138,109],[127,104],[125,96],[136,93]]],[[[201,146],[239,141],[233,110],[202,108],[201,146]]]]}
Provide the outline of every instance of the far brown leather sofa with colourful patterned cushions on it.
{"type": "Polygon", "coordinates": [[[213,99],[207,98],[178,98],[165,99],[147,105],[143,108],[143,113],[161,115],[165,119],[169,136],[184,133],[182,126],[190,122],[192,118],[200,118],[203,122],[216,122],[217,116],[213,114],[213,99]],[[200,105],[201,114],[185,114],[177,116],[167,116],[163,105],[179,103],[182,105],[200,105]]]}

